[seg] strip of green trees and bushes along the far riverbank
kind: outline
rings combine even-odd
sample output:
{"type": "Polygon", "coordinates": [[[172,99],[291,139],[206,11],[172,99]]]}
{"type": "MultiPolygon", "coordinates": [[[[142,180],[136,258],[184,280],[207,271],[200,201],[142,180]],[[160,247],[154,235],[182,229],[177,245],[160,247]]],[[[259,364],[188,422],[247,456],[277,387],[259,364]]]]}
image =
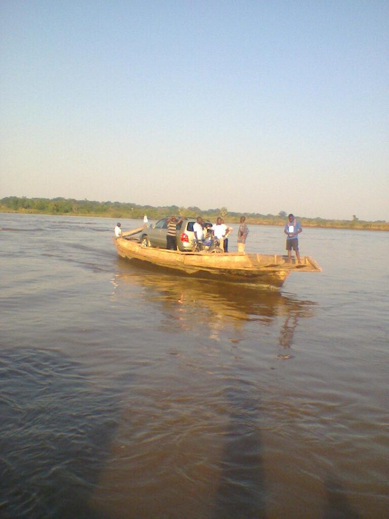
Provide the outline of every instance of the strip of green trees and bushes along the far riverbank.
{"type": "MultiPolygon", "coordinates": [[[[227,208],[208,209],[206,211],[198,207],[177,206],[138,206],[135,203],[122,202],[95,202],[90,200],[74,200],[73,198],[26,198],[6,197],[0,199],[0,212],[17,212],[31,214],[68,214],[78,216],[105,216],[107,218],[143,218],[147,214],[150,220],[158,220],[167,215],[198,216],[201,215],[211,221],[217,216],[223,216],[228,222],[239,222],[242,213],[228,212],[227,208]]],[[[247,224],[257,225],[284,225],[286,212],[279,214],[243,213],[247,224]]],[[[327,227],[338,229],[369,229],[389,230],[389,222],[378,220],[365,222],[353,215],[352,220],[325,220],[324,218],[304,218],[297,216],[303,227],[327,227]]]]}

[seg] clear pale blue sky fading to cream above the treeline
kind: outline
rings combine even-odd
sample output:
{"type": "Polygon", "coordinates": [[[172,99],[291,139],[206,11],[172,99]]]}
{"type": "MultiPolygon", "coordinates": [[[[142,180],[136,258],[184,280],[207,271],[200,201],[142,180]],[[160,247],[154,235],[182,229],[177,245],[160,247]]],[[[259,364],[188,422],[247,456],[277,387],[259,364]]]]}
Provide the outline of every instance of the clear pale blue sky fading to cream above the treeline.
{"type": "Polygon", "coordinates": [[[389,220],[388,2],[0,7],[0,198],[389,220]]]}

